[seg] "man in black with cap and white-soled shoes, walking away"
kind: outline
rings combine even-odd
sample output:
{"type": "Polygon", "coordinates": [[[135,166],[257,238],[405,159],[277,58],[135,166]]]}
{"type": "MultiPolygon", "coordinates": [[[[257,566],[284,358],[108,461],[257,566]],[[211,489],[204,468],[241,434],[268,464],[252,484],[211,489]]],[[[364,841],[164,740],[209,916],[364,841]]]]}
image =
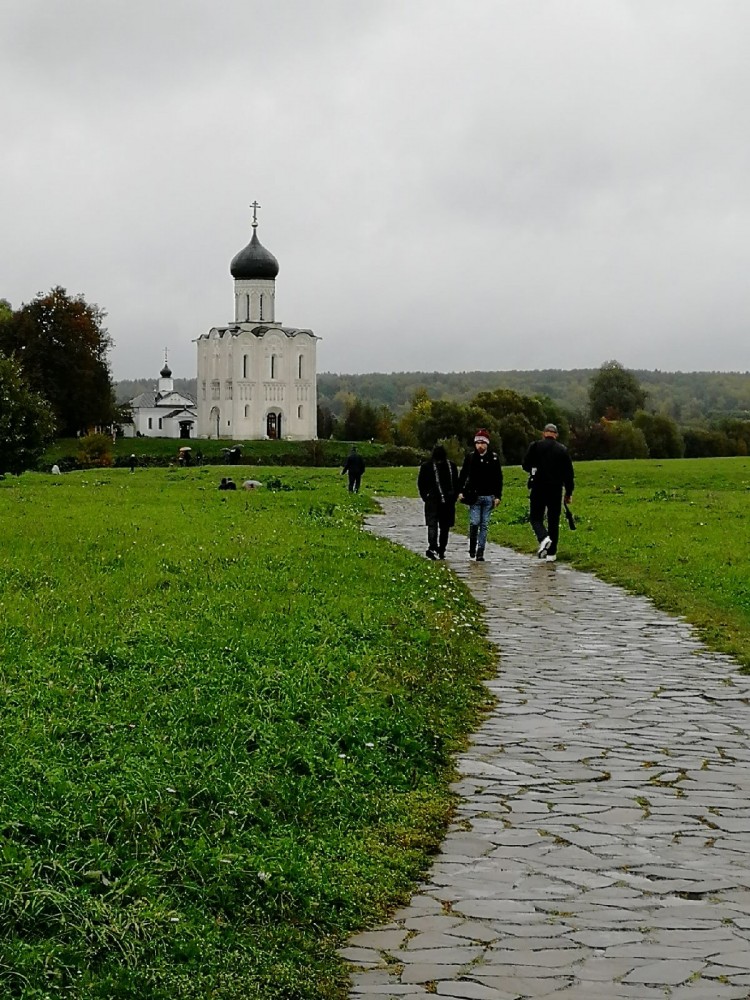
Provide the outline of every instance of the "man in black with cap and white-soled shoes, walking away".
{"type": "Polygon", "coordinates": [[[539,542],[537,556],[547,562],[554,562],[557,559],[557,540],[560,536],[563,490],[565,503],[569,504],[573,499],[575,485],[573,462],[568,449],[557,440],[557,427],[554,424],[546,424],[541,440],[529,445],[522,464],[524,471],[529,473],[529,521],[539,542]]]}

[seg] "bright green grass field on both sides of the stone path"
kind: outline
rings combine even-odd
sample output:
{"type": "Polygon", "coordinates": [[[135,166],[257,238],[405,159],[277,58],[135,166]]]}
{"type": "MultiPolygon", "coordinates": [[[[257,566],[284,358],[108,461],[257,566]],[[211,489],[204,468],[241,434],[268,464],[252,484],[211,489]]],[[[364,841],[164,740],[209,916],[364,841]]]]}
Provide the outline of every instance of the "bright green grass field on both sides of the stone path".
{"type": "MultiPolygon", "coordinates": [[[[576,471],[561,560],[750,666],[750,462],[576,471]]],[[[441,839],[494,669],[476,606],[336,470],[222,473],[0,481],[2,996],[344,997],[336,946],[441,839]]],[[[533,558],[526,504],[506,469],[490,537],[533,558]]]]}

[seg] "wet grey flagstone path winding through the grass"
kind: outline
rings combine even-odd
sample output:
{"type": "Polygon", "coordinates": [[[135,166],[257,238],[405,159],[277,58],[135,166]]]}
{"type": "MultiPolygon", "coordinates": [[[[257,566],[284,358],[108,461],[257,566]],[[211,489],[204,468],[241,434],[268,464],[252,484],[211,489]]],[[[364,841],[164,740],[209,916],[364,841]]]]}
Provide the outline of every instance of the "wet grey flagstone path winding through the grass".
{"type": "MultiPolygon", "coordinates": [[[[424,552],[421,504],[382,506],[371,529],[424,552]]],[[[351,997],[747,1000],[750,678],[564,564],[472,563],[458,535],[448,555],[486,609],[498,705],[427,880],[343,950],[351,997]]]]}

